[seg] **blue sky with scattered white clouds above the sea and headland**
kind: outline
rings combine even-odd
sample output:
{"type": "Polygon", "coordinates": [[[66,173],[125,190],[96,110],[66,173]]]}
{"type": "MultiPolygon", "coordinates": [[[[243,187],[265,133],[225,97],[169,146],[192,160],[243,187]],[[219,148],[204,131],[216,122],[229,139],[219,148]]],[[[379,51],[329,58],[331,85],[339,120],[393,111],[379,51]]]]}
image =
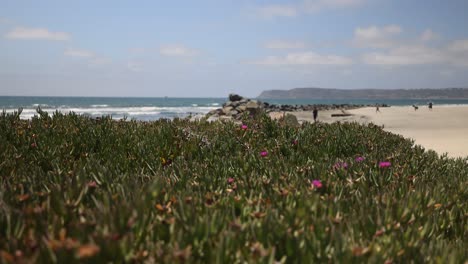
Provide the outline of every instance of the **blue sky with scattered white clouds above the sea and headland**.
{"type": "Polygon", "coordinates": [[[466,0],[0,0],[0,95],[468,87],[466,0]]]}

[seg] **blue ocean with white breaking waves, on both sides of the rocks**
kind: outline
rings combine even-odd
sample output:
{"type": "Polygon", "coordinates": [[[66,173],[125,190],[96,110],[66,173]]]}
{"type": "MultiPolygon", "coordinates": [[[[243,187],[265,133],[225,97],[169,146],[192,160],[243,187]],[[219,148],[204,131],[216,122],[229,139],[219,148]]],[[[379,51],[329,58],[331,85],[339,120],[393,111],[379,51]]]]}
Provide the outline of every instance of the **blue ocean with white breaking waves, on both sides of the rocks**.
{"type": "MultiPolygon", "coordinates": [[[[206,114],[220,108],[227,98],[173,98],[173,97],[35,97],[0,96],[0,109],[11,113],[22,108],[21,118],[30,119],[37,115],[37,109],[53,114],[75,112],[91,117],[111,116],[113,119],[127,118],[151,121],[160,118],[184,118],[190,115],[206,114]]],[[[390,106],[427,105],[422,99],[266,99],[270,104],[388,104],[390,106]]],[[[430,100],[437,105],[468,104],[468,99],[430,100]]]]}

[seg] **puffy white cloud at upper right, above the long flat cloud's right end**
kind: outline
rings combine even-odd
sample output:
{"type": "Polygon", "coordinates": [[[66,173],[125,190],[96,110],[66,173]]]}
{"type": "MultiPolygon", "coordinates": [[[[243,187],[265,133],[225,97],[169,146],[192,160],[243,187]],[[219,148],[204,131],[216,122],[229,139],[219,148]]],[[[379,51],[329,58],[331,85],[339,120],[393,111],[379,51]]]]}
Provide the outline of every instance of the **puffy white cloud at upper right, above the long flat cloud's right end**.
{"type": "Polygon", "coordinates": [[[354,30],[353,43],[366,48],[389,48],[396,44],[394,37],[401,32],[403,29],[398,25],[358,27],[354,30]]]}

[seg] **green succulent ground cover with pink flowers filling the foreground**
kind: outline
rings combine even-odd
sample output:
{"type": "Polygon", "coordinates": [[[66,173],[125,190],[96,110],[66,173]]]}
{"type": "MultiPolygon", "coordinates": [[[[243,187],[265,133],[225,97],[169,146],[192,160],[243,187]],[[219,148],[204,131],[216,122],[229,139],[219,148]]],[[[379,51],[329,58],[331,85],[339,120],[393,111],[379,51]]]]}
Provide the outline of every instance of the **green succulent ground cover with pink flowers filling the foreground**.
{"type": "Polygon", "coordinates": [[[2,262],[467,260],[468,160],[372,124],[19,114],[0,116],[2,262]]]}

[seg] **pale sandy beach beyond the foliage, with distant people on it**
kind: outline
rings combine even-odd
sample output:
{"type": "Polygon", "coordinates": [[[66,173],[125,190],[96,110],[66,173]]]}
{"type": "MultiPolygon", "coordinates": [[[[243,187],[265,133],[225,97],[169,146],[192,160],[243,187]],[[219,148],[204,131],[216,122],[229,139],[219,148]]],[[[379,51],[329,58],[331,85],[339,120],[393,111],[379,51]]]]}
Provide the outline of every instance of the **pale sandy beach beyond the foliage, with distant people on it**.
{"type": "MultiPolygon", "coordinates": [[[[435,105],[432,110],[421,106],[365,107],[346,111],[351,116],[331,117],[340,110],[319,112],[321,122],[359,122],[384,126],[386,131],[414,139],[415,144],[449,157],[468,156],[468,105],[435,105]]],[[[312,121],[311,112],[294,113],[299,121],[312,121]]]]}

